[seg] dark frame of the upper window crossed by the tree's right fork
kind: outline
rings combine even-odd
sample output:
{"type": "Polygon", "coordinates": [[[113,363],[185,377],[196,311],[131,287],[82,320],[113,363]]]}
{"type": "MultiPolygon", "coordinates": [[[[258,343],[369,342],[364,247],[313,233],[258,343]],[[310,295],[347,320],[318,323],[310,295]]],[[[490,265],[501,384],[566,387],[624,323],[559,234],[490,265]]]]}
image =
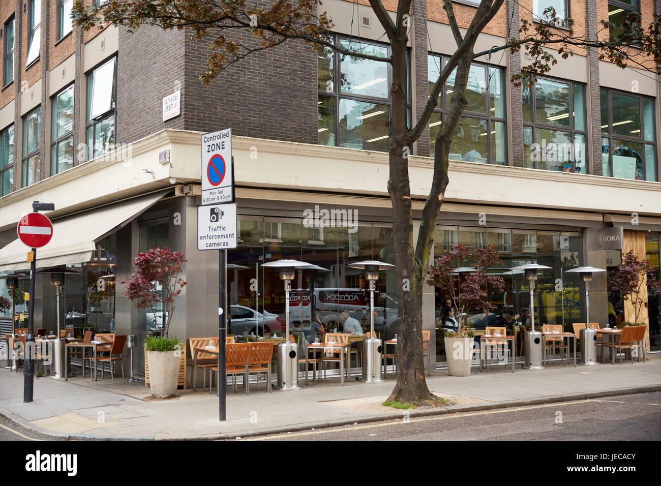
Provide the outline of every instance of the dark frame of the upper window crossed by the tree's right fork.
{"type": "MultiPolygon", "coordinates": [[[[446,56],[444,54],[436,54],[436,53],[430,51],[430,52],[427,52],[427,62],[429,62],[430,56],[440,59],[440,62],[441,62],[440,63],[440,71],[442,71],[446,67],[447,61],[449,60],[449,57],[450,57],[450,56],[446,56]]],[[[491,83],[488,82],[488,83],[486,83],[486,91],[485,91],[485,101],[486,101],[486,106],[485,106],[486,110],[485,110],[485,112],[482,113],[482,112],[477,112],[477,111],[464,110],[464,112],[461,114],[461,118],[474,118],[474,119],[477,119],[477,120],[486,120],[486,124],[487,124],[486,131],[489,134],[489,136],[486,137],[486,155],[487,155],[487,157],[486,157],[485,164],[486,165],[505,166],[505,165],[508,165],[508,159],[507,159],[507,154],[508,154],[508,145],[507,145],[508,144],[508,140],[507,140],[508,139],[508,137],[507,137],[507,93],[506,93],[506,87],[505,87],[505,84],[504,84],[505,68],[501,67],[499,65],[488,65],[486,63],[481,63],[481,62],[477,62],[477,61],[473,61],[471,63],[471,67],[473,67],[473,65],[483,67],[485,69],[485,74],[486,74],[485,79],[489,79],[489,72],[488,72],[489,69],[498,69],[498,71],[500,72],[500,83],[501,83],[501,86],[502,86],[502,115],[503,116],[502,117],[492,116],[492,114],[491,114],[491,109],[490,109],[490,99],[491,99],[490,85],[491,85],[491,83]],[[505,135],[504,136],[504,147],[503,147],[504,160],[502,161],[502,163],[498,163],[497,161],[490,161],[490,157],[491,157],[491,136],[490,135],[491,135],[491,132],[494,130],[494,122],[502,123],[503,127],[504,127],[504,135],[505,135]]],[[[429,81],[427,81],[427,83],[429,83],[429,81]]],[[[434,114],[434,113],[440,114],[440,116],[441,116],[440,126],[443,126],[443,120],[446,117],[447,112],[449,111],[449,106],[447,106],[449,104],[447,102],[447,94],[448,93],[447,93],[447,83],[446,83],[446,84],[443,85],[443,89],[442,89],[440,95],[438,95],[441,99],[440,103],[437,104],[434,107],[434,111],[432,112],[432,114],[434,114]]],[[[430,120],[431,120],[431,118],[430,118],[430,120]]],[[[429,125],[430,125],[430,122],[427,122],[427,129],[428,130],[430,128],[429,125]]],[[[454,136],[453,136],[453,138],[454,138],[454,136]]],[[[430,132],[430,140],[429,140],[429,151],[430,151],[430,156],[434,157],[434,152],[432,151],[431,132],[430,132]]],[[[454,160],[454,159],[451,159],[451,160],[454,160]]],[[[467,162],[467,161],[458,161],[458,162],[467,162]]]]}

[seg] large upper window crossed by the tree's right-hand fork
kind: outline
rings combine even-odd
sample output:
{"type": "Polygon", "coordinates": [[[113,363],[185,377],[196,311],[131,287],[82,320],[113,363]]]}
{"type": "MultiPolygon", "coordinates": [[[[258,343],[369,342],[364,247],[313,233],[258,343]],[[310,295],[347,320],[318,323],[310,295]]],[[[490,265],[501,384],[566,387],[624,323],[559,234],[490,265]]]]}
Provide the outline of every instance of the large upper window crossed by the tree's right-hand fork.
{"type": "MultiPolygon", "coordinates": [[[[427,56],[430,93],[446,63],[447,58],[432,54],[427,56]]],[[[455,69],[447,78],[444,94],[442,92],[440,95],[436,110],[429,119],[432,157],[436,136],[449,110],[456,72],[455,69]]],[[[478,63],[471,65],[466,89],[468,104],[450,145],[450,160],[505,165],[507,149],[502,75],[502,69],[498,67],[478,63]]]]}

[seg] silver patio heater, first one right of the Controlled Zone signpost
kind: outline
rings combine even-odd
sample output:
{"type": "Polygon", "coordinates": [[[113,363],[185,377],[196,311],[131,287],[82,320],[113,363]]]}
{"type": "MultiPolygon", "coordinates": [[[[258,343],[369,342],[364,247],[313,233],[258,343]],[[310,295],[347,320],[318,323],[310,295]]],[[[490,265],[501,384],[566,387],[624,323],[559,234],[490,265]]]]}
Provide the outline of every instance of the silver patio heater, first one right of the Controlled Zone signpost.
{"type": "Polygon", "coordinates": [[[305,268],[311,264],[297,260],[276,260],[263,263],[262,266],[279,270],[280,280],[285,284],[285,342],[278,344],[278,387],[283,391],[301,389],[298,385],[298,347],[289,341],[289,294],[296,268],[305,268]]]}

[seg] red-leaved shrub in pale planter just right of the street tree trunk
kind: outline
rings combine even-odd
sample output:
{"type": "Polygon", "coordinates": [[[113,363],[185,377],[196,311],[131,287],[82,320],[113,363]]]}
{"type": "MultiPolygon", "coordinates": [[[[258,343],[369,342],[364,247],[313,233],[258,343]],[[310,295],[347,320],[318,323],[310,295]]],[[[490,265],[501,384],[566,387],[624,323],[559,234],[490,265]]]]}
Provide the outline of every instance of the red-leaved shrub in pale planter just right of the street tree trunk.
{"type": "MultiPolygon", "coordinates": [[[[491,285],[497,290],[505,288],[505,281],[498,275],[488,275],[488,270],[496,263],[502,265],[498,251],[491,245],[475,249],[471,253],[465,245],[453,245],[436,259],[436,265],[428,268],[428,284],[440,287],[441,291],[450,296],[455,309],[455,317],[459,323],[460,332],[448,333],[444,337],[447,356],[447,372],[450,376],[467,376],[471,374],[473,359],[474,334],[464,328],[466,312],[471,307],[489,307],[486,300],[486,287],[491,285]],[[458,272],[461,263],[477,257],[471,264],[472,270],[458,272]],[[462,273],[466,276],[462,276],[462,273]]],[[[443,319],[444,316],[441,316],[443,319]]]]}

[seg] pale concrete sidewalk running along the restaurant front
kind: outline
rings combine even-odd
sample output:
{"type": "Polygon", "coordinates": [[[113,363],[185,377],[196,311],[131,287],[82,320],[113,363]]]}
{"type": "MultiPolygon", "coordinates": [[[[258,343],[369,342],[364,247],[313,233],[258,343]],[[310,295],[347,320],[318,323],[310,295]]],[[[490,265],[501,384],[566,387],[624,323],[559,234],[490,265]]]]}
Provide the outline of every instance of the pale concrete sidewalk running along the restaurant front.
{"type": "MultiPolygon", "coordinates": [[[[38,432],[70,438],[184,439],[234,438],[401,419],[401,411],[379,405],[392,391],[393,378],[383,384],[355,380],[343,387],[338,378],[301,383],[298,391],[265,393],[251,385],[251,395],[227,393],[227,421],[218,421],[218,399],[207,391],[180,390],[177,399],[145,399],[144,382],[115,379],[69,382],[38,378],[34,401],[22,403],[23,375],[0,369],[0,413],[38,432]]],[[[449,377],[445,370],[427,377],[429,389],[453,403],[442,409],[414,409],[410,416],[477,409],[533,405],[661,389],[661,359],[646,363],[566,366],[515,373],[492,366],[473,368],[471,376],[449,377]]],[[[230,389],[231,390],[231,389],[230,389]]]]}

